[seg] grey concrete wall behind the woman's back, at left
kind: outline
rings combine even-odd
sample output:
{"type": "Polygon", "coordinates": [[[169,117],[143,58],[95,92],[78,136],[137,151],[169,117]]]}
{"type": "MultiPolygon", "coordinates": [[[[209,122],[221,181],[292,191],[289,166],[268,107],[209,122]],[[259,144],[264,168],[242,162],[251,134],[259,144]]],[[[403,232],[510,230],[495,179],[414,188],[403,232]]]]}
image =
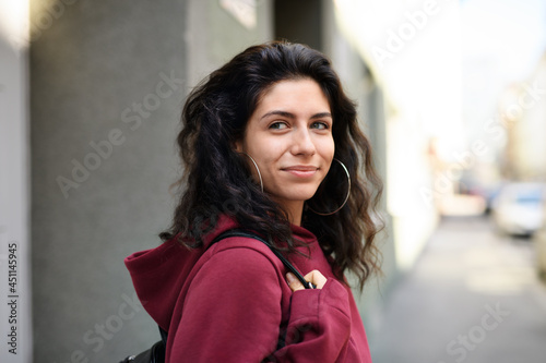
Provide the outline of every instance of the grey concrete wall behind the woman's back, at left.
{"type": "Polygon", "coordinates": [[[158,339],[123,258],[170,222],[183,96],[271,39],[271,2],[254,26],[245,1],[47,3],[31,20],[35,356],[114,362],[158,339]]]}

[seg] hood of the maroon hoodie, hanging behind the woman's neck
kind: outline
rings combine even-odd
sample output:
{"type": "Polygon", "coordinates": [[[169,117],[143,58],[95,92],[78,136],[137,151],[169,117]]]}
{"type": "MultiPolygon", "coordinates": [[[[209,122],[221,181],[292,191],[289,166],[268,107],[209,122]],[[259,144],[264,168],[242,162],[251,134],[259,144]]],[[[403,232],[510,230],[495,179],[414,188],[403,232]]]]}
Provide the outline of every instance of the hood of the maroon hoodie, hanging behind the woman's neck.
{"type": "MultiPolygon", "coordinates": [[[[218,234],[238,228],[227,216],[221,216],[215,229],[205,235],[204,246],[188,249],[169,240],[162,245],[133,253],[124,259],[142,306],[164,330],[168,330],[180,291],[193,266],[218,234]]],[[[307,229],[292,226],[294,237],[310,244],[317,239],[307,229]]],[[[302,251],[306,253],[307,251],[302,251]]],[[[295,256],[294,263],[301,256],[295,256]]]]}

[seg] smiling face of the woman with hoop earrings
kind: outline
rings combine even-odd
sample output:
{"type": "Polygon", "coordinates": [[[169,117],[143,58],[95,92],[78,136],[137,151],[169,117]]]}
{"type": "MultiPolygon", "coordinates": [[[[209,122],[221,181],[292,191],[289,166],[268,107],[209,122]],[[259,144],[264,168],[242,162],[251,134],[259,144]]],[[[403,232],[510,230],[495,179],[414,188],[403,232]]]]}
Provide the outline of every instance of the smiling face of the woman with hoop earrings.
{"type": "MultiPolygon", "coordinates": [[[[277,203],[292,210],[300,208],[332,164],[332,122],[330,105],[317,82],[281,81],[262,95],[237,150],[254,159],[264,191],[277,203]]],[[[251,164],[250,169],[257,178],[251,164]]]]}

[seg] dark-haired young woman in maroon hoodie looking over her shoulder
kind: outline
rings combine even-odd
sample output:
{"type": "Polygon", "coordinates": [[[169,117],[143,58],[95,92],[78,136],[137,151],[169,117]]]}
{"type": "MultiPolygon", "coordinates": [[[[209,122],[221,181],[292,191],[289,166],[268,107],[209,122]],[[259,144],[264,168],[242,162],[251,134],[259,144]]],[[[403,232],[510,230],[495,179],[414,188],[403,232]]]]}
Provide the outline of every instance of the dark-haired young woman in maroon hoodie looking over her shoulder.
{"type": "Polygon", "coordinates": [[[250,47],[188,97],[181,196],[164,243],[126,259],[167,362],[371,362],[351,288],[378,267],[381,183],[329,60],[250,47]],[[270,240],[316,289],[304,289],[270,240]]]}

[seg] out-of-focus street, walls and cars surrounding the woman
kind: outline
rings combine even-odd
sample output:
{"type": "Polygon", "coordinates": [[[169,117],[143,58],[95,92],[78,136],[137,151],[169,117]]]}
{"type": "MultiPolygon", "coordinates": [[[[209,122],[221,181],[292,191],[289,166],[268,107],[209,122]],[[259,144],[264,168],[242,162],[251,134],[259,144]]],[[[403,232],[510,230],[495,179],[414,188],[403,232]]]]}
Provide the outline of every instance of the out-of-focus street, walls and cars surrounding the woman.
{"type": "Polygon", "coordinates": [[[544,0],[0,0],[0,361],[158,339],[123,258],[169,225],[185,96],[271,39],[332,59],[375,147],[373,361],[544,362],[544,0]]]}

